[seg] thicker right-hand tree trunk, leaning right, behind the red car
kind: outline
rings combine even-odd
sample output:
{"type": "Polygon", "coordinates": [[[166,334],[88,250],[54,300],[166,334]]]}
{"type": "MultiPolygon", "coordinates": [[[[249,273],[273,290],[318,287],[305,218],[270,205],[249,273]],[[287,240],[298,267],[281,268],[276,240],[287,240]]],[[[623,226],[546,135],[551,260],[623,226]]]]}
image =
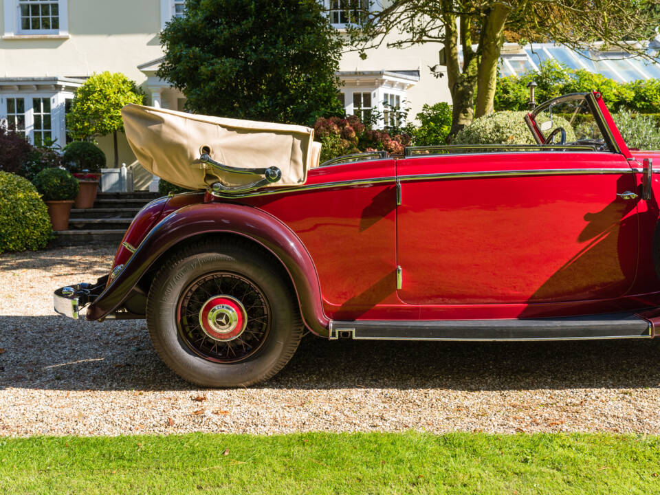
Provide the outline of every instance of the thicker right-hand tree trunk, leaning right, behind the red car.
{"type": "Polygon", "coordinates": [[[493,3],[483,21],[479,49],[481,63],[477,74],[476,117],[493,111],[497,86],[497,65],[504,42],[504,25],[511,12],[505,3],[493,3]]]}

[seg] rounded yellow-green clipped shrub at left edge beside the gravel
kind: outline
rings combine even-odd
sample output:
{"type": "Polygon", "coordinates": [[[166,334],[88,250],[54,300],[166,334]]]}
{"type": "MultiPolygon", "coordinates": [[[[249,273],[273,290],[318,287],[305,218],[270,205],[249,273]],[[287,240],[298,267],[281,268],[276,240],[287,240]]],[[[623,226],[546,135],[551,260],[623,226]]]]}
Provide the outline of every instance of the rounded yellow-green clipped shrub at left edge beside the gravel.
{"type": "Polygon", "coordinates": [[[51,239],[48,210],[28,179],[0,171],[0,253],[38,250],[51,239]]]}

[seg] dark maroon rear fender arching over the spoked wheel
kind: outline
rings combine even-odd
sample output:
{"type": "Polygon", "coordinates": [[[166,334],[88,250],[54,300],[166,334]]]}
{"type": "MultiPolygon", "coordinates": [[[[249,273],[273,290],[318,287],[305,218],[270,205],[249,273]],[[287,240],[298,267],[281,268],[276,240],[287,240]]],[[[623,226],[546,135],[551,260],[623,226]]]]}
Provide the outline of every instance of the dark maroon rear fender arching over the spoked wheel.
{"type": "Polygon", "coordinates": [[[177,243],[213,232],[239,234],[270,250],[292,278],[307,327],[320,336],[328,336],[329,319],[322,309],[316,269],[298,236],[259,208],[229,203],[185,206],[159,221],[124,270],[89,305],[87,320],[98,320],[120,307],[146,270],[177,243]]]}

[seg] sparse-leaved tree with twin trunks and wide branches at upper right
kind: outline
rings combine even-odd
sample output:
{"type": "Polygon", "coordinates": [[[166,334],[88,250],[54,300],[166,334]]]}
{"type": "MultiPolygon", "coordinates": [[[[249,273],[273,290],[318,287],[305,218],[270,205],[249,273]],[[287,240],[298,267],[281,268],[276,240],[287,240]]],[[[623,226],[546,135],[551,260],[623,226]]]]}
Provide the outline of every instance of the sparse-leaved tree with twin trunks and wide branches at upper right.
{"type": "MultiPolygon", "coordinates": [[[[497,64],[505,41],[553,42],[572,50],[599,44],[648,56],[644,40],[660,23],[659,0],[393,0],[349,29],[351,44],[366,55],[385,43],[443,46],[452,95],[452,135],[473,116],[493,111],[497,64]]],[[[431,67],[436,76],[439,66],[431,67]]]]}

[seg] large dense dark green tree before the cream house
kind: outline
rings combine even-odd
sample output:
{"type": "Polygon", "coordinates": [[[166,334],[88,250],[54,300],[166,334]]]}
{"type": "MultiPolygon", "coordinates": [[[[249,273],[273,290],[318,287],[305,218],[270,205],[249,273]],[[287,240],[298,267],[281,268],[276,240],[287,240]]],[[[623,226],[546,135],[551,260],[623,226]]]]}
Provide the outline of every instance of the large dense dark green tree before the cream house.
{"type": "Polygon", "coordinates": [[[188,0],[160,39],[157,74],[191,111],[294,124],[343,113],[342,42],[316,0],[188,0]]]}

